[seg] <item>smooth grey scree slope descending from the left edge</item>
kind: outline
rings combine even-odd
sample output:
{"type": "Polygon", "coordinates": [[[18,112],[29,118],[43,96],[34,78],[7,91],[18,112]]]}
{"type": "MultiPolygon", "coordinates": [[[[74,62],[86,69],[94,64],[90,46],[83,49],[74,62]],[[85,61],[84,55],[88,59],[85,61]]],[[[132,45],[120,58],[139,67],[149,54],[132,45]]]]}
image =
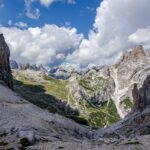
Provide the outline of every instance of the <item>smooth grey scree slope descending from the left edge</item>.
{"type": "Polygon", "coordinates": [[[80,141],[92,137],[91,133],[89,128],[48,113],[0,85],[0,143],[7,142],[0,148],[19,149],[26,144],[57,140],[80,141]]]}

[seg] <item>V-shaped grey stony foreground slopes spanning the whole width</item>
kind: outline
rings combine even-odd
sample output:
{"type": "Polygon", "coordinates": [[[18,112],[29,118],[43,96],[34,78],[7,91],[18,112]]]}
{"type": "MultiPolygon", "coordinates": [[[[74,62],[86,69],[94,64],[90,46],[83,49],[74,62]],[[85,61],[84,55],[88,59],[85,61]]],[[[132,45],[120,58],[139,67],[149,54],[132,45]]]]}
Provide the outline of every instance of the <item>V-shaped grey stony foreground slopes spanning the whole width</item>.
{"type": "Polygon", "coordinates": [[[91,130],[57,114],[48,113],[0,85],[0,114],[1,149],[148,150],[150,148],[149,106],[142,112],[137,110],[129,114],[124,120],[109,128],[91,130]]]}

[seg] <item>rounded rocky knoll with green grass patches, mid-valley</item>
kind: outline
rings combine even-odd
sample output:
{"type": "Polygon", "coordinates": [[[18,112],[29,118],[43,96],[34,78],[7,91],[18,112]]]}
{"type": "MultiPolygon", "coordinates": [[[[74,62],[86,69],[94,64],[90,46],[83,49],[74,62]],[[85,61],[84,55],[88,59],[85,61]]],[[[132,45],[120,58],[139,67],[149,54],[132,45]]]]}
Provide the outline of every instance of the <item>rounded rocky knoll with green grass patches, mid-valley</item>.
{"type": "Polygon", "coordinates": [[[69,79],[69,91],[79,101],[86,100],[95,106],[109,101],[115,90],[109,68],[91,69],[83,75],[74,74],[69,79]]]}

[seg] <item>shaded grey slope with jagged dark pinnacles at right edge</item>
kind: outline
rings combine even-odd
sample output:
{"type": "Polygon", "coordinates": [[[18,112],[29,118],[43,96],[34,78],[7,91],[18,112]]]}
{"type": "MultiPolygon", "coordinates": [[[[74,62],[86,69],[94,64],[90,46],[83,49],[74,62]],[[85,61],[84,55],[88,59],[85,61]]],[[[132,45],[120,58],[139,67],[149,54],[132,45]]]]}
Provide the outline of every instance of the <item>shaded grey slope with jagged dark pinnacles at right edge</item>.
{"type": "Polygon", "coordinates": [[[132,94],[134,110],[120,122],[106,130],[99,130],[101,136],[132,138],[150,134],[150,75],[147,76],[141,88],[134,84],[132,94]]]}

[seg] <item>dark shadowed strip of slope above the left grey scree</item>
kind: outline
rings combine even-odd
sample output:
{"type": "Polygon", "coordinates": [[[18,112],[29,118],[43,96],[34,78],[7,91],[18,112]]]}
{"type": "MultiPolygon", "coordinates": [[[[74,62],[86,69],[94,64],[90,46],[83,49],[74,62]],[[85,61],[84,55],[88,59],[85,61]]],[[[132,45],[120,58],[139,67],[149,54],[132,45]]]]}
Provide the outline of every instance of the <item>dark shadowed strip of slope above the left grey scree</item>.
{"type": "Polygon", "coordinates": [[[88,125],[87,120],[79,116],[77,109],[72,108],[67,101],[46,93],[42,85],[29,85],[14,79],[14,89],[24,99],[42,109],[47,109],[50,113],[58,113],[80,124],[88,125]]]}

